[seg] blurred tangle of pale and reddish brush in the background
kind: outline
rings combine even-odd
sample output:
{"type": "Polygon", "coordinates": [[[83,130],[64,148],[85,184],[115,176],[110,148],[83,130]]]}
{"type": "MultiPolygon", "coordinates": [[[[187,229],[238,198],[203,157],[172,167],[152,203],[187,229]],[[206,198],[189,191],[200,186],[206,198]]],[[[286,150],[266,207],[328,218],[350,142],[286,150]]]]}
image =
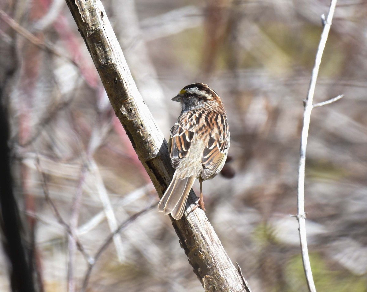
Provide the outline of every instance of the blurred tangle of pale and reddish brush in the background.
{"type": "MultiPolygon", "coordinates": [[[[180,111],[170,99],[183,86],[204,82],[222,96],[236,175],[204,182],[206,214],[252,290],[308,291],[289,214],[297,212],[302,100],[329,1],[102,3],[166,138],[180,111]]],[[[0,9],[0,86],[40,291],[83,283],[90,292],[203,291],[65,1],[3,0],[0,9]],[[87,254],[120,224],[86,281],[87,254]]],[[[315,102],[345,95],[311,117],[305,204],[318,292],[367,291],[366,15],[367,1],[338,1],[316,86],[315,102]]],[[[1,252],[1,291],[10,291],[7,268],[1,252]]]]}

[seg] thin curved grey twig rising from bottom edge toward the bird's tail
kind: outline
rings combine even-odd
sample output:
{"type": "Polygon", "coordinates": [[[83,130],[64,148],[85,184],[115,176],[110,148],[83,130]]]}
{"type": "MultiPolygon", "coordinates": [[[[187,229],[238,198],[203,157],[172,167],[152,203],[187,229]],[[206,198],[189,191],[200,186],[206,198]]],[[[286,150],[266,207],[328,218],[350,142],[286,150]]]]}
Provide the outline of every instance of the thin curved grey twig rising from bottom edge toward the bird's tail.
{"type": "Polygon", "coordinates": [[[157,202],[150,204],[148,207],[144,208],[143,210],[139,211],[138,213],[135,213],[134,215],[130,216],[129,218],[127,218],[127,220],[125,220],[124,222],[122,222],[119,227],[116,228],[116,230],[114,232],[112,232],[107,238],[106,240],[102,243],[102,245],[99,247],[99,249],[97,250],[97,252],[94,255],[94,258],[92,261],[89,262],[88,264],[88,269],[86,271],[86,274],[84,275],[84,280],[83,280],[83,286],[81,288],[81,292],[86,291],[87,285],[88,285],[88,281],[90,279],[90,275],[92,273],[92,269],[94,268],[95,263],[97,262],[97,260],[99,259],[99,257],[101,256],[101,254],[106,250],[106,248],[110,245],[110,243],[112,242],[113,238],[119,234],[119,232],[121,232],[121,230],[125,229],[131,222],[135,221],[137,218],[139,218],[142,214],[146,213],[147,211],[149,211],[150,209],[152,209],[153,207],[157,206],[157,202]]]}

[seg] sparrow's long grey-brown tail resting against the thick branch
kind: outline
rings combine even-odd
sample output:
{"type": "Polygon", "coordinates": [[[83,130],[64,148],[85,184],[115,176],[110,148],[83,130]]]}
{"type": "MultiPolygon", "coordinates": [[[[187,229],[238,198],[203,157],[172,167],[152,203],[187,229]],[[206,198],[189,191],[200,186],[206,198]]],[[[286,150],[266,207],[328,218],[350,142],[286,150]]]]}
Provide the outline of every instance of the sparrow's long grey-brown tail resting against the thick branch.
{"type": "Polygon", "coordinates": [[[171,214],[176,220],[181,219],[195,180],[196,177],[177,178],[175,173],[158,204],[158,210],[164,212],[165,215],[171,214]]]}

